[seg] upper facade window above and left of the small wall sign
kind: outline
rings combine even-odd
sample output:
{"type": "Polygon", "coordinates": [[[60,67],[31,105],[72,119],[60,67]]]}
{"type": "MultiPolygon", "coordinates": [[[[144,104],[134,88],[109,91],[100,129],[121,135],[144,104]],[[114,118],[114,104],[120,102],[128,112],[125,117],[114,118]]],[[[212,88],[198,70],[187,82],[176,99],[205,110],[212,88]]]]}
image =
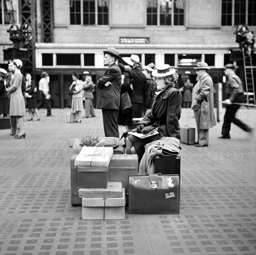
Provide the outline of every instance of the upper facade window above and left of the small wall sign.
{"type": "Polygon", "coordinates": [[[109,0],[70,0],[70,25],[109,25],[109,0]]]}

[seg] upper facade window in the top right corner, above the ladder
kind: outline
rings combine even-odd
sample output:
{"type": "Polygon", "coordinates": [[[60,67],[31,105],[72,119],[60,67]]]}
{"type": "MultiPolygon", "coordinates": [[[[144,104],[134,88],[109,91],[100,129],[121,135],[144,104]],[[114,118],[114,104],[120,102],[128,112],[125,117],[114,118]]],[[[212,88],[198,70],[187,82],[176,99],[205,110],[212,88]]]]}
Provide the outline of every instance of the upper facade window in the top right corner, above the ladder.
{"type": "Polygon", "coordinates": [[[246,23],[256,26],[255,0],[223,0],[222,1],[222,26],[237,26],[246,23]]]}

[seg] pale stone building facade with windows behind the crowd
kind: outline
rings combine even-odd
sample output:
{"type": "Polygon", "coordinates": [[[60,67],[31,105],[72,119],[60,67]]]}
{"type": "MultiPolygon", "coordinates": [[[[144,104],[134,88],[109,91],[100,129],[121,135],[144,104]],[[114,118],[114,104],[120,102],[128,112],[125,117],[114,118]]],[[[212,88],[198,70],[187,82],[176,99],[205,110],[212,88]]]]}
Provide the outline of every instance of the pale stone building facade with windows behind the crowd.
{"type": "MultiPolygon", "coordinates": [[[[22,2],[1,0],[2,49],[10,47],[6,30],[20,23],[22,2]]],[[[102,76],[103,50],[118,49],[122,57],[137,54],[143,65],[170,64],[179,70],[179,86],[187,76],[195,83],[193,67],[205,61],[214,83],[222,82],[237,48],[236,26],[246,23],[256,31],[254,0],[30,0],[35,14],[33,70],[50,74],[54,107],[69,107],[73,71],[102,76]]],[[[33,26],[32,26],[33,27],[33,26]]],[[[236,63],[235,63],[236,64],[236,63]]]]}

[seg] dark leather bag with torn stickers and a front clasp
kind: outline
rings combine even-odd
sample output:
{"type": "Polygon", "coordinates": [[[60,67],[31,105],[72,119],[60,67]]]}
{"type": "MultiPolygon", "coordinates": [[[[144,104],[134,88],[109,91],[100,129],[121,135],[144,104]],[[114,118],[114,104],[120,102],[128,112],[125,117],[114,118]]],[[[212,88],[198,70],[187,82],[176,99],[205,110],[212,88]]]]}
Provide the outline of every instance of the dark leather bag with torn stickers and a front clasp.
{"type": "Polygon", "coordinates": [[[179,175],[129,176],[129,213],[179,214],[179,175]]]}

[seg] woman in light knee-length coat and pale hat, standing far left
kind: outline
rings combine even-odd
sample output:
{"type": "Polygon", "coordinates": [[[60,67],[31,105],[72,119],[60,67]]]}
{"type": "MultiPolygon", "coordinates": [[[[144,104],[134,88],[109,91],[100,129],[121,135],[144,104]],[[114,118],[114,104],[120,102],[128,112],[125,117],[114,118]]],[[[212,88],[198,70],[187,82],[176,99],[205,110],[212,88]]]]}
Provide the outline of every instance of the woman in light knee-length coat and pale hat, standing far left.
{"type": "Polygon", "coordinates": [[[14,74],[10,82],[10,87],[6,88],[6,92],[10,94],[10,110],[9,116],[11,120],[11,134],[15,139],[19,139],[26,136],[24,131],[24,122],[22,116],[26,115],[25,100],[22,95],[22,74],[20,68],[22,67],[22,61],[19,59],[13,60],[14,74]],[[17,132],[17,125],[19,126],[19,133],[17,132]]]}

